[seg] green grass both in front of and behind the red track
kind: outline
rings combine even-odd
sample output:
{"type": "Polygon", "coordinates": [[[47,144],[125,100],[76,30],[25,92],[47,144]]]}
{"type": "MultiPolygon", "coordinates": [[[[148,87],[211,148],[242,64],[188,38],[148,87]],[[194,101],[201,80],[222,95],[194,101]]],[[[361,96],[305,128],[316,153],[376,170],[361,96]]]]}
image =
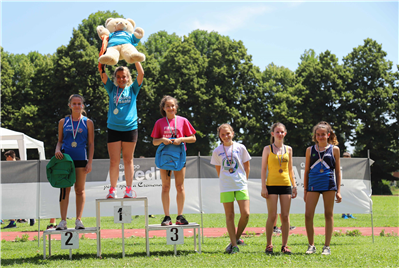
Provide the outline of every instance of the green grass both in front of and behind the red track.
{"type": "MultiPolygon", "coordinates": [[[[397,196],[375,196],[374,202],[374,226],[399,226],[397,196]]],[[[204,227],[225,227],[224,215],[204,215],[204,227]]],[[[355,215],[355,220],[335,217],[336,227],[371,226],[369,215],[355,215]]],[[[264,226],[265,214],[252,214],[249,226],[264,226]]],[[[160,216],[150,219],[150,224],[159,223],[160,216]]],[[[190,221],[200,222],[199,215],[189,214],[190,221]]],[[[291,215],[293,225],[304,226],[303,215],[291,215]]],[[[84,219],[86,226],[95,226],[94,218],[84,219]]],[[[114,224],[111,217],[102,219],[102,228],[115,229],[120,226],[114,224]]],[[[73,221],[71,220],[71,226],[73,221]]],[[[21,227],[10,231],[26,230],[34,227],[21,224],[21,227]]],[[[323,226],[323,215],[317,215],[315,226],[323,226]]],[[[130,228],[143,228],[144,217],[133,221],[130,228]]],[[[6,229],[7,230],[7,229],[6,229]]],[[[102,240],[102,259],[96,257],[96,240],[80,240],[79,249],[73,250],[73,260],[69,260],[69,251],[61,250],[61,242],[52,242],[52,256],[43,260],[43,249],[38,247],[37,241],[27,242],[0,242],[0,266],[21,267],[398,267],[398,236],[375,237],[372,243],[371,237],[362,236],[334,236],[331,242],[331,256],[321,256],[324,236],[316,236],[317,254],[306,255],[307,238],[304,235],[291,235],[288,245],[293,254],[282,255],[278,251],[281,247],[281,236],[273,238],[275,254],[266,255],[264,249],[266,238],[263,235],[249,235],[244,238],[247,246],[240,247],[240,254],[223,254],[228,244],[227,237],[206,238],[202,244],[202,254],[193,251],[193,238],[185,238],[184,245],[177,246],[177,256],[173,254],[173,246],[166,245],[165,238],[155,237],[150,239],[151,256],[146,257],[145,239],[130,237],[125,239],[125,258],[121,258],[122,239],[102,240]]]]}

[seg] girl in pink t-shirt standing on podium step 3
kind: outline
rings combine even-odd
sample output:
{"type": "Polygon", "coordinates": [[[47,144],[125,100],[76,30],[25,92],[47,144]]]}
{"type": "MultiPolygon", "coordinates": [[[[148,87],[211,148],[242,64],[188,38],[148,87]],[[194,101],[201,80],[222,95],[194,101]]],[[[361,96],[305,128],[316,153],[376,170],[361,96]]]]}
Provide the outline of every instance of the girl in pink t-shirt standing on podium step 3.
{"type": "MultiPolygon", "coordinates": [[[[163,118],[159,119],[152,130],[152,143],[155,146],[164,143],[165,145],[174,144],[180,145],[184,143],[194,143],[195,129],[190,122],[181,116],[178,116],[177,108],[179,107],[177,100],[171,96],[164,96],[159,104],[161,115],[163,118]]],[[[187,150],[187,148],[186,148],[187,150]]],[[[162,179],[162,205],[165,217],[161,223],[162,226],[172,225],[172,219],[169,214],[170,207],[170,170],[161,169],[162,179]]],[[[176,202],[177,202],[177,218],[176,224],[186,225],[188,221],[183,217],[183,207],[186,194],[184,192],[184,176],[186,174],[186,164],[179,171],[174,171],[175,185],[176,185],[176,202]]]]}

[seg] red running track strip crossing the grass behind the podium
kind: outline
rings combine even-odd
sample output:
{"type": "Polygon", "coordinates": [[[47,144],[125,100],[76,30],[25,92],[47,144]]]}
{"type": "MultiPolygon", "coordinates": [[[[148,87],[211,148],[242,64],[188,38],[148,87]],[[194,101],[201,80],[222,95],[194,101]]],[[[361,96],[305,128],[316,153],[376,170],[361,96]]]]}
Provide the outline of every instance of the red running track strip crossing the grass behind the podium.
{"type": "MultiPolygon", "coordinates": [[[[399,227],[374,227],[374,236],[379,236],[382,230],[385,230],[385,233],[396,233],[399,234],[399,227]]],[[[334,231],[340,230],[341,232],[345,233],[347,230],[359,230],[363,236],[371,236],[372,230],[370,227],[335,227],[334,231]]],[[[204,228],[203,229],[205,237],[220,237],[223,235],[227,235],[226,228],[204,228]]],[[[248,227],[245,229],[245,233],[249,235],[260,235],[265,232],[264,227],[248,227]]],[[[22,237],[22,235],[28,234],[29,240],[33,240],[35,236],[37,236],[37,232],[1,232],[0,233],[0,240],[5,239],[6,241],[13,241],[15,238],[22,237]]],[[[303,234],[306,235],[305,227],[297,227],[295,230],[290,231],[290,234],[303,234]]],[[[82,234],[81,234],[82,235],[82,234]]],[[[194,235],[193,230],[185,229],[184,235],[186,237],[190,237],[194,235]]],[[[315,228],[315,235],[324,235],[324,227],[316,227],[315,228]]],[[[43,233],[40,232],[40,237],[43,236],[43,233]]],[[[144,229],[125,229],[125,237],[145,237],[145,230],[144,229]]],[[[166,237],[166,231],[151,231],[149,233],[150,237],[166,237]]],[[[96,234],[85,234],[86,238],[95,239],[96,234]]],[[[113,230],[101,230],[101,238],[121,238],[122,237],[122,230],[120,229],[113,229],[113,230]]],[[[60,240],[60,235],[52,235],[52,239],[60,240]]]]}

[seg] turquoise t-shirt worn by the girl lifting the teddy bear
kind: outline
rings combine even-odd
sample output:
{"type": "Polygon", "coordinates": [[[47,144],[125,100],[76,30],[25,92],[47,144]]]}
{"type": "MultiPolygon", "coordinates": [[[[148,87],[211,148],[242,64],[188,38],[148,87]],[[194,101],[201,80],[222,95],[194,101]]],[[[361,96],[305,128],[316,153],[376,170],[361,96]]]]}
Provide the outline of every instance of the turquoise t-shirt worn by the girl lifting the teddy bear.
{"type": "Polygon", "coordinates": [[[114,83],[108,78],[107,83],[104,85],[109,96],[109,109],[107,127],[116,131],[131,131],[137,129],[137,105],[136,99],[139,94],[141,85],[137,83],[137,79],[130,86],[125,89],[115,86],[114,83]],[[116,98],[121,94],[116,106],[116,98]],[[114,110],[118,108],[118,113],[114,114],[114,110]]]}

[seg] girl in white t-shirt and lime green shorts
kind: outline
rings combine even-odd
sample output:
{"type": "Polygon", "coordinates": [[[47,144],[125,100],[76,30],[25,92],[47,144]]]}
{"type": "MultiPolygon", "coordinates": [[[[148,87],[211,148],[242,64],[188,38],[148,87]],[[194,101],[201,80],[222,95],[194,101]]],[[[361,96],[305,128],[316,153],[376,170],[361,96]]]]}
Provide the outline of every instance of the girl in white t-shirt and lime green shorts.
{"type": "Polygon", "coordinates": [[[218,127],[220,144],[212,153],[211,164],[215,165],[219,177],[220,202],[223,203],[226,214],[226,227],[230,236],[230,244],[226,247],[226,253],[239,252],[238,246],[244,245],[240,239],[249,219],[249,155],[244,145],[233,142],[234,131],[229,124],[218,127]],[[237,232],[234,224],[234,199],[240,208],[240,220],[237,232]]]}

